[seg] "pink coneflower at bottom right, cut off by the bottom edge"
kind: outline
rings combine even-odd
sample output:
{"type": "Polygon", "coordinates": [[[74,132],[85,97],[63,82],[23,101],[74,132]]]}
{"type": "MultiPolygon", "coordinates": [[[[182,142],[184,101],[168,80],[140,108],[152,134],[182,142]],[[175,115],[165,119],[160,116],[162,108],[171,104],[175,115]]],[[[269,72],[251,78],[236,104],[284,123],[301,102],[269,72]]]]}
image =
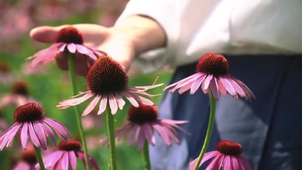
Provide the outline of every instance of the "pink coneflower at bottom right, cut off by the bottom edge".
{"type": "MultiPolygon", "coordinates": [[[[238,143],[221,141],[216,146],[216,151],[204,155],[199,167],[211,160],[207,170],[252,170],[248,161],[240,156],[242,147],[238,143]]],[[[189,170],[194,170],[198,158],[190,163],[189,170]]]]}

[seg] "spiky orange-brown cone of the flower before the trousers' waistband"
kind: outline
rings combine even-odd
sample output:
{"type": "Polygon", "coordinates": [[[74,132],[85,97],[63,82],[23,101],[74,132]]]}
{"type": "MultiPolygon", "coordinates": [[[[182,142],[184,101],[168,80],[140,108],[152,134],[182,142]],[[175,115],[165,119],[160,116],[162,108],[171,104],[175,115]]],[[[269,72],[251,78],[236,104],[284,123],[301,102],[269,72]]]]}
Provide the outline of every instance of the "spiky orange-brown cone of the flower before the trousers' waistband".
{"type": "Polygon", "coordinates": [[[196,66],[197,72],[212,74],[216,77],[227,75],[227,59],[220,54],[207,53],[203,55],[196,66]]]}

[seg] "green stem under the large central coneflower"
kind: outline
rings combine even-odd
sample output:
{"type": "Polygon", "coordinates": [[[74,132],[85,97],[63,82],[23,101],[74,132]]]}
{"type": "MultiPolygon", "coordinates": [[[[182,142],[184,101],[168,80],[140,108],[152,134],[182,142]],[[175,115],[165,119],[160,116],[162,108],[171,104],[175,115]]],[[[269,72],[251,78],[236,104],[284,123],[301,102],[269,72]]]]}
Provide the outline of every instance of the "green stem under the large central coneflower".
{"type": "Polygon", "coordinates": [[[114,135],[114,116],[111,114],[109,106],[107,107],[107,129],[109,137],[110,148],[110,166],[111,170],[116,170],[116,157],[115,157],[115,135],[114,135]]]}

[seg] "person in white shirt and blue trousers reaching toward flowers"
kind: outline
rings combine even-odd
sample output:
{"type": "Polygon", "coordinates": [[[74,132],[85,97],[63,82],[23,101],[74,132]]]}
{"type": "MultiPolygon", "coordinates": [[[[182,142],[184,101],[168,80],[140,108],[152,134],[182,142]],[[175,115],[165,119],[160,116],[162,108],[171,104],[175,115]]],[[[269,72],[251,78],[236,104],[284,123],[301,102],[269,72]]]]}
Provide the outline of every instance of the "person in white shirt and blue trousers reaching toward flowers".
{"type": "MultiPolygon", "coordinates": [[[[249,86],[256,99],[219,99],[208,151],[229,140],[241,144],[255,170],[301,170],[301,7],[301,0],[131,0],[114,27],[73,26],[87,45],[107,52],[126,69],[175,68],[170,84],[194,74],[203,54],[223,54],[230,74],[249,86]]],[[[41,26],[30,35],[52,43],[64,27],[41,26]]],[[[68,70],[66,56],[56,61],[68,70]]],[[[75,56],[76,72],[85,76],[88,68],[82,61],[75,56]]],[[[172,147],[156,137],[156,146],[150,147],[152,170],[188,169],[202,148],[209,109],[202,90],[164,95],[159,117],[188,120],[182,128],[192,135],[180,136],[181,144],[172,147]]]]}

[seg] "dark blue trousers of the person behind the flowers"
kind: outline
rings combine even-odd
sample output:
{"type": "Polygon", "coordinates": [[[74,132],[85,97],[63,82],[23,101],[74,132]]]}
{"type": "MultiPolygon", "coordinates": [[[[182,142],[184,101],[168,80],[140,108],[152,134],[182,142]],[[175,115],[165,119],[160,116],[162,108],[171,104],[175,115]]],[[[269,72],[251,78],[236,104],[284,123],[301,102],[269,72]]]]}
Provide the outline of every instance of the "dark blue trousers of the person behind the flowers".
{"type": "MultiPolygon", "coordinates": [[[[256,99],[220,97],[208,151],[229,140],[241,144],[254,170],[302,170],[302,56],[225,56],[230,75],[247,85],[256,99]]],[[[191,76],[195,67],[177,68],[171,83],[191,76]]],[[[168,147],[156,134],[156,146],[150,147],[152,170],[188,169],[201,151],[209,111],[209,96],[201,89],[193,95],[164,94],[160,118],[188,120],[181,127],[191,135],[178,131],[180,145],[168,147]]]]}

